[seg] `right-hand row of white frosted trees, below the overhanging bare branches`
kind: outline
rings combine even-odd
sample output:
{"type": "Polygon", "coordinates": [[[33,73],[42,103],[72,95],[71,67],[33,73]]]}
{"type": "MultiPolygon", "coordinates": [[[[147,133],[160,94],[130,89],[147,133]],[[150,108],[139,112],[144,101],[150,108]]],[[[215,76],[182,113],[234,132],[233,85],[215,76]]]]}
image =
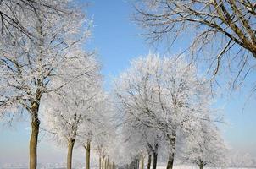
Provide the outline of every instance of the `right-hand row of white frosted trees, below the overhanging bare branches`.
{"type": "MultiPolygon", "coordinates": [[[[209,82],[182,57],[149,54],[131,62],[115,81],[114,94],[123,113],[125,151],[150,168],[159,152],[173,168],[176,152],[183,162],[224,166],[226,146],[214,123],[209,82]],[[164,152],[163,152],[164,151],[164,152]]],[[[126,153],[127,153],[126,152],[126,153]]]]}

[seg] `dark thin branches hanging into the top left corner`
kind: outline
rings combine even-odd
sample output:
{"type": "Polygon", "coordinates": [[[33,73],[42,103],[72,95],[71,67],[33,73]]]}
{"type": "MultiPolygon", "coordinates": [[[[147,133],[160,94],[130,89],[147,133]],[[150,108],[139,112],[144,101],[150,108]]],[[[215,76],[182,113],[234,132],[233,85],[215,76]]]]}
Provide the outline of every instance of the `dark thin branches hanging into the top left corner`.
{"type": "Polygon", "coordinates": [[[12,36],[13,30],[27,35],[31,40],[36,39],[33,30],[24,23],[31,15],[42,14],[44,19],[51,19],[53,15],[66,17],[69,0],[2,0],[0,3],[1,35],[12,36]]]}

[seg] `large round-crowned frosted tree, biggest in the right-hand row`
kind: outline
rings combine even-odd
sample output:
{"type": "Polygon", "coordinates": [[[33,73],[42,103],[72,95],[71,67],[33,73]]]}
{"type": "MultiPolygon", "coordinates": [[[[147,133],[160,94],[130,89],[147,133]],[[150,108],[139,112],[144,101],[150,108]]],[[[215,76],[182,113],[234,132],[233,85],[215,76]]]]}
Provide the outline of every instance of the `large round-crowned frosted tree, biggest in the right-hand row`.
{"type": "Polygon", "coordinates": [[[133,60],[115,84],[120,111],[162,132],[170,147],[167,168],[172,168],[177,131],[198,127],[201,109],[209,104],[209,85],[182,57],[155,54],[133,60]]]}

